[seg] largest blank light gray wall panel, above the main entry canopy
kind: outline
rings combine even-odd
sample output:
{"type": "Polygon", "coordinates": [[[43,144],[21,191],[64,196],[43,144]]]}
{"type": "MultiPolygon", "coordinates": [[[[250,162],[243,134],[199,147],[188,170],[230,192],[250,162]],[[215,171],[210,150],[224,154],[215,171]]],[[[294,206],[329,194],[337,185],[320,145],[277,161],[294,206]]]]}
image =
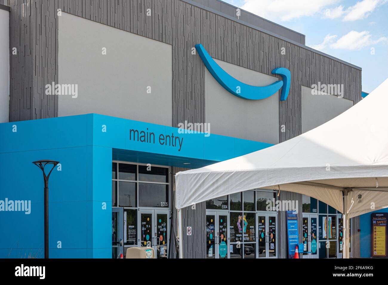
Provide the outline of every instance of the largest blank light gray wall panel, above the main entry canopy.
{"type": "Polygon", "coordinates": [[[58,26],[58,83],[78,86],[76,98],[59,96],[59,116],[99,113],[171,126],[171,45],[64,12],[58,26]]]}

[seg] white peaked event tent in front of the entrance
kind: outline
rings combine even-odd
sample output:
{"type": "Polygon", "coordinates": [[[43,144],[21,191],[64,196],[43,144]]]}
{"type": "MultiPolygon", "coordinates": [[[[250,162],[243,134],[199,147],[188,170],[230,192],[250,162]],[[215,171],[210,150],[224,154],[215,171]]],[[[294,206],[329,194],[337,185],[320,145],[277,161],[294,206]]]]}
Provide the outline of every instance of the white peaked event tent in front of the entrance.
{"type": "MultiPolygon", "coordinates": [[[[175,175],[181,208],[241,191],[305,194],[349,218],[388,207],[388,79],[352,108],[315,129],[266,149],[175,175]],[[345,212],[344,212],[345,209],[345,212]]],[[[331,96],[331,95],[315,95],[331,96]]],[[[182,243],[179,243],[182,246],[182,243]]],[[[180,248],[180,258],[183,257],[180,248]]]]}

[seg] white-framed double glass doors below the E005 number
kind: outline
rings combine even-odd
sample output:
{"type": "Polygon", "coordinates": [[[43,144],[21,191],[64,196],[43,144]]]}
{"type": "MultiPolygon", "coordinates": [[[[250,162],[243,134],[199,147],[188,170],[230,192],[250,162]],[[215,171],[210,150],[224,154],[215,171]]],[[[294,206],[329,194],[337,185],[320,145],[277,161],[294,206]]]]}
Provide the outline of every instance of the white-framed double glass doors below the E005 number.
{"type": "Polygon", "coordinates": [[[140,246],[153,247],[156,258],[167,258],[170,211],[139,209],[140,246]]]}

